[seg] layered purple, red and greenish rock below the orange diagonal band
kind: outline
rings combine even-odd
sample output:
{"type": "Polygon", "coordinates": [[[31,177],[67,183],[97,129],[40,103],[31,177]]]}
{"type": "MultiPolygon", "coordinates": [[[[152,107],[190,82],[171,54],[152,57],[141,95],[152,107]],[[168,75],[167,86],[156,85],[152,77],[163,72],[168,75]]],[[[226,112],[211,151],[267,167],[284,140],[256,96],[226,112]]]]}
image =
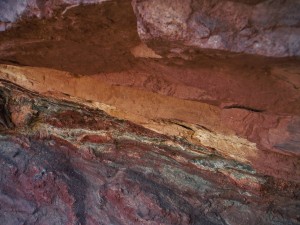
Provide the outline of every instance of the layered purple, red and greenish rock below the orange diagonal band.
{"type": "Polygon", "coordinates": [[[299,224],[296,183],[1,85],[1,224],[299,224]]]}

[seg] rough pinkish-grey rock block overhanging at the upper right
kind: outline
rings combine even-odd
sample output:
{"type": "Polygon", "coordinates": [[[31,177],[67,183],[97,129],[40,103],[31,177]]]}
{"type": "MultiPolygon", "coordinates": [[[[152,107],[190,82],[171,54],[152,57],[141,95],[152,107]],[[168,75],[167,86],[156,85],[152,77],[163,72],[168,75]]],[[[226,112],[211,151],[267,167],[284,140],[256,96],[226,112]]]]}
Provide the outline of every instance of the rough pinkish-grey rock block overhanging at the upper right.
{"type": "Polygon", "coordinates": [[[134,0],[140,37],[266,56],[300,55],[300,2],[134,0]]]}

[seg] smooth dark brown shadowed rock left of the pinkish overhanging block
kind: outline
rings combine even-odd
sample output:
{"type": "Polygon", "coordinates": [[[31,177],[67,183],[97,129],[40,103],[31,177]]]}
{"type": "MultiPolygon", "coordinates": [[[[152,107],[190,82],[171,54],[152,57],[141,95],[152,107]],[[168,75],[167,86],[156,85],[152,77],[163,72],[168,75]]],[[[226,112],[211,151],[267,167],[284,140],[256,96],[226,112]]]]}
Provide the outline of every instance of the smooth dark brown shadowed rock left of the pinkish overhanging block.
{"type": "Polygon", "coordinates": [[[75,74],[122,71],[134,64],[130,49],[140,41],[129,1],[63,11],[49,19],[22,20],[0,33],[0,62],[75,74]]]}

